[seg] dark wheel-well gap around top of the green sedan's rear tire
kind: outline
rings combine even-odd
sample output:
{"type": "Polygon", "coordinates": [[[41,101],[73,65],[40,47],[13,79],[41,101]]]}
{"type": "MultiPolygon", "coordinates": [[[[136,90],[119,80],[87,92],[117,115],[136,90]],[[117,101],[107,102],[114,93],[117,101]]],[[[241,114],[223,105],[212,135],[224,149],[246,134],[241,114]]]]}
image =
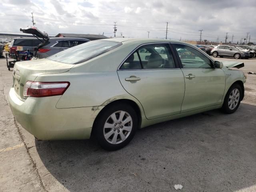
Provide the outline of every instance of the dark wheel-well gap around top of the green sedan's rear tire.
{"type": "Polygon", "coordinates": [[[98,113],[98,115],[97,115],[96,118],[94,119],[93,126],[92,126],[91,136],[92,136],[92,135],[94,134],[94,132],[95,132],[95,126],[96,126],[97,120],[98,120],[98,118],[100,118],[101,114],[102,114],[109,106],[112,106],[112,105],[117,104],[117,103],[125,103],[125,104],[129,104],[130,106],[132,106],[132,108],[135,110],[135,112],[136,112],[136,114],[137,114],[137,117],[138,117],[138,128],[140,128],[141,123],[142,123],[142,112],[141,112],[141,110],[143,110],[143,109],[140,109],[140,107],[138,106],[138,104],[137,104],[136,102],[134,102],[133,100],[130,100],[130,99],[118,99],[118,100],[114,100],[114,101],[108,103],[106,106],[104,106],[104,108],[102,108],[102,110],[100,110],[100,112],[98,113]]]}

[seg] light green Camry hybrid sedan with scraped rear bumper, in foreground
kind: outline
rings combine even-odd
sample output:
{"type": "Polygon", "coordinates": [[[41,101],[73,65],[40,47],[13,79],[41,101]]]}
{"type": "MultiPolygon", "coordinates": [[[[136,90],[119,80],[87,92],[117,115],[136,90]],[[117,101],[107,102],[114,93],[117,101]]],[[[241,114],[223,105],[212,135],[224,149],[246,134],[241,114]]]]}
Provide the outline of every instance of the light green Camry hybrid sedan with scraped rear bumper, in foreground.
{"type": "Polygon", "coordinates": [[[138,128],[217,108],[235,112],[245,82],[242,71],[190,44],[114,38],[16,62],[9,103],[40,140],[94,135],[104,149],[117,150],[138,128]]]}

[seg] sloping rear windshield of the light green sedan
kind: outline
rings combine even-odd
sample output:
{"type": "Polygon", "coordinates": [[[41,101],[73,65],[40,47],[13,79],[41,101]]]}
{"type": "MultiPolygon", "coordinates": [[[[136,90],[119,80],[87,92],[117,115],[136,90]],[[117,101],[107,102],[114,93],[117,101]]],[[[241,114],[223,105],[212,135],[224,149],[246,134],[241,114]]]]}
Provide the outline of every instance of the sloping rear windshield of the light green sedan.
{"type": "Polygon", "coordinates": [[[90,41],[59,52],[47,59],[66,64],[79,64],[119,47],[120,45],[122,45],[122,43],[115,41],[90,41]]]}

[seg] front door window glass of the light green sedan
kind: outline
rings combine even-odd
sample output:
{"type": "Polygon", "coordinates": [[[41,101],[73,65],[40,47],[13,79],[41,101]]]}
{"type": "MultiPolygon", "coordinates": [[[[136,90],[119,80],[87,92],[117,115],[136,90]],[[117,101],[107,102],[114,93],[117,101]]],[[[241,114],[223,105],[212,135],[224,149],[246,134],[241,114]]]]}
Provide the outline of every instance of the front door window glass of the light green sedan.
{"type": "Polygon", "coordinates": [[[210,59],[195,48],[181,44],[173,45],[178,52],[183,68],[212,68],[210,59]]]}

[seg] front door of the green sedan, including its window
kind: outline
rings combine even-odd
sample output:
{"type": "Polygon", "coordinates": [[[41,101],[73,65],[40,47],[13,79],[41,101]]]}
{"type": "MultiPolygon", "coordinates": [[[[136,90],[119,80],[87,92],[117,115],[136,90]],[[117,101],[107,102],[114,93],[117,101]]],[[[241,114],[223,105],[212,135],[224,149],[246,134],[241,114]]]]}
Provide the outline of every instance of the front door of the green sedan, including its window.
{"type": "Polygon", "coordinates": [[[225,90],[225,73],[212,68],[212,61],[192,46],[173,44],[185,77],[181,113],[219,105],[225,90]]]}

